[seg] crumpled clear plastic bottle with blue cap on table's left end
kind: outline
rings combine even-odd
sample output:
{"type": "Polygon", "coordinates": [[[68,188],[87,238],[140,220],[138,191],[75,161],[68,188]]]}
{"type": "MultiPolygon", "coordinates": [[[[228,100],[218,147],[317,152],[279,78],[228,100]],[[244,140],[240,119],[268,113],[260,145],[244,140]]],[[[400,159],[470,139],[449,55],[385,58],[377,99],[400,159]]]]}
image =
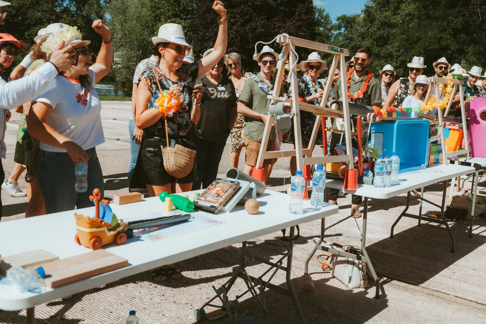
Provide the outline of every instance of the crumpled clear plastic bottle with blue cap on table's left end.
{"type": "Polygon", "coordinates": [[[20,292],[30,291],[39,293],[42,291],[42,287],[44,287],[43,282],[46,273],[42,267],[24,270],[21,267],[13,266],[7,270],[5,277],[10,280],[12,285],[17,287],[20,292]],[[39,282],[39,278],[41,282],[39,282]]]}

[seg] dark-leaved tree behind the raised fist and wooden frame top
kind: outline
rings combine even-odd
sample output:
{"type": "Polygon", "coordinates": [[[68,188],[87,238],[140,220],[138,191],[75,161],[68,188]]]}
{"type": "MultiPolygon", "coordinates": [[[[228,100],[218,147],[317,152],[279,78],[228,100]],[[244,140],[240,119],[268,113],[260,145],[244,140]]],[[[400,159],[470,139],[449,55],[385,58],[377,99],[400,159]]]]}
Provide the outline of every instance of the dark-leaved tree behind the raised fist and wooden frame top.
{"type": "MultiPolygon", "coordinates": [[[[218,33],[218,16],[211,8],[212,0],[200,0],[189,24],[188,38],[196,59],[214,46],[218,33]]],[[[225,2],[228,11],[228,49],[242,56],[242,68],[255,71],[255,43],[271,41],[278,34],[314,40],[316,17],[312,0],[233,0],[225,2]]],[[[278,44],[270,44],[280,52],[278,44]]],[[[257,51],[260,51],[260,44],[257,51]]],[[[297,48],[299,61],[311,50],[297,48]]]]}

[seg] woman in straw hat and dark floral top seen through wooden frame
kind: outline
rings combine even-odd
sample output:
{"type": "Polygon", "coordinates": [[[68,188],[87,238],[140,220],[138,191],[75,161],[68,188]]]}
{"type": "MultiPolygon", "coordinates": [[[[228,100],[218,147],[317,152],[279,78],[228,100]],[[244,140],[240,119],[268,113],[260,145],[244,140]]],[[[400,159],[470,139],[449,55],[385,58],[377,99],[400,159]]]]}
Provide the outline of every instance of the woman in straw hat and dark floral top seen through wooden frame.
{"type": "MultiPolygon", "coordinates": [[[[299,68],[304,75],[297,79],[298,97],[302,98],[303,102],[320,105],[322,96],[324,94],[324,85],[317,80],[317,77],[321,72],[327,70],[326,62],[321,60],[321,57],[317,52],[312,52],[307,57],[307,60],[300,62],[299,68]]],[[[289,91],[289,97],[293,97],[291,91],[289,91]]],[[[308,111],[300,112],[300,128],[302,138],[302,148],[307,148],[309,141],[311,140],[312,130],[314,128],[315,115],[308,111]],[[304,144],[305,143],[305,144],[304,144]]],[[[294,127],[290,129],[288,133],[287,143],[292,143],[295,146],[294,127]]],[[[322,132],[317,132],[316,144],[322,145],[322,132]]],[[[297,170],[296,157],[290,158],[290,172],[292,175],[297,170]]]]}

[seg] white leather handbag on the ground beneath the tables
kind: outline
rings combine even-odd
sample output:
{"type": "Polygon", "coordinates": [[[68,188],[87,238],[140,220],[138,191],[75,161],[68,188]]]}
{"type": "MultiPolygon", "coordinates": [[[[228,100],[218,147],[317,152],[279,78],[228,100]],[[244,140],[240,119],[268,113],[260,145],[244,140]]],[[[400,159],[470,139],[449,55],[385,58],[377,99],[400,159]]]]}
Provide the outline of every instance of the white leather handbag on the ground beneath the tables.
{"type": "MultiPolygon", "coordinates": [[[[334,248],[339,249],[334,246],[334,248]]],[[[343,246],[346,251],[348,246],[343,246]]],[[[366,278],[366,263],[359,260],[350,259],[346,256],[332,255],[331,274],[349,288],[364,288],[368,285],[366,278]]]]}

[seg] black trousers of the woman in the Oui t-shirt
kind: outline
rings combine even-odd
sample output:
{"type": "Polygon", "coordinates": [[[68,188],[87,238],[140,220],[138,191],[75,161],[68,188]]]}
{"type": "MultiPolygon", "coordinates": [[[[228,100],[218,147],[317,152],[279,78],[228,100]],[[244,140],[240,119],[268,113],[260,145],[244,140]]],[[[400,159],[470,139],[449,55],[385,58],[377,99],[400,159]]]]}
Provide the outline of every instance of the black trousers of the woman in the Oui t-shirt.
{"type": "Polygon", "coordinates": [[[226,139],[207,140],[192,135],[192,142],[196,144],[197,181],[192,183],[192,190],[208,188],[218,176],[219,162],[225,150],[226,139]]]}

